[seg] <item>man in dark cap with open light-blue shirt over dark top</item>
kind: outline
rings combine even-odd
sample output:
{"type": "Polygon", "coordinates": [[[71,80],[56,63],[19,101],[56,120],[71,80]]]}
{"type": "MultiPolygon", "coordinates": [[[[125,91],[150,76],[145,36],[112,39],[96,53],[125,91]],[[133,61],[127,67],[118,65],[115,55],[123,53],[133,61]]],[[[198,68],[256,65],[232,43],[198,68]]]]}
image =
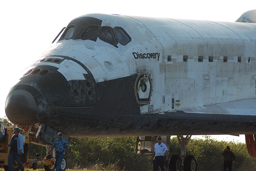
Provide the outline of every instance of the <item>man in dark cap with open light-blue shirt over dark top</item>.
{"type": "Polygon", "coordinates": [[[8,165],[9,165],[9,171],[13,171],[13,160],[16,159],[20,171],[24,171],[23,164],[21,162],[21,154],[23,152],[23,136],[20,134],[20,128],[13,128],[13,136],[11,138],[11,141],[6,145],[6,148],[8,149],[8,146],[11,146],[11,150],[9,152],[8,156],[8,165]]]}

